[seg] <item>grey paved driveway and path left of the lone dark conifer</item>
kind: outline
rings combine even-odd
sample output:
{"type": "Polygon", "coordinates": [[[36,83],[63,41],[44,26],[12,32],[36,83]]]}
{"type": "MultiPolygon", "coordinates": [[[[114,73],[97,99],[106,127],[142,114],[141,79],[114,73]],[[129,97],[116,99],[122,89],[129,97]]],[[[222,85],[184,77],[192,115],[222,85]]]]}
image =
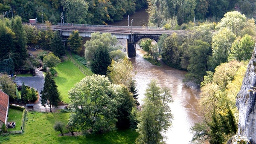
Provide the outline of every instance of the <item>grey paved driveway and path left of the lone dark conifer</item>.
{"type": "MultiPolygon", "coordinates": [[[[34,77],[16,77],[15,82],[17,85],[24,84],[26,86],[33,87],[34,89],[38,90],[39,95],[41,96],[40,92],[44,88],[44,73],[42,71],[39,71],[38,69],[35,69],[35,76],[34,77]]],[[[47,111],[49,112],[49,107],[47,106],[47,109],[41,105],[41,98],[39,97],[39,100],[34,103],[34,110],[36,111],[47,111]]],[[[20,106],[26,106],[26,104],[18,104],[20,106]]],[[[57,108],[52,107],[52,112],[55,112],[57,109],[64,109],[65,105],[60,105],[57,108]]]]}

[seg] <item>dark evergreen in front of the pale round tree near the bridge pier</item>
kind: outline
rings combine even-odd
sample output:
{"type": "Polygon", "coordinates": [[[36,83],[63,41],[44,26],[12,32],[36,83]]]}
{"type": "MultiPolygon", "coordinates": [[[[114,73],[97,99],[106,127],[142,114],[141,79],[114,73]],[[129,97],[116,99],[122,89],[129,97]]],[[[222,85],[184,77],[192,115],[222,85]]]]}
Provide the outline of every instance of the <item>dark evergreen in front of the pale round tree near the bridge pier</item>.
{"type": "Polygon", "coordinates": [[[109,56],[109,52],[107,47],[100,46],[94,55],[94,60],[91,64],[91,70],[95,74],[106,75],[108,66],[111,64],[111,58],[109,56]]]}

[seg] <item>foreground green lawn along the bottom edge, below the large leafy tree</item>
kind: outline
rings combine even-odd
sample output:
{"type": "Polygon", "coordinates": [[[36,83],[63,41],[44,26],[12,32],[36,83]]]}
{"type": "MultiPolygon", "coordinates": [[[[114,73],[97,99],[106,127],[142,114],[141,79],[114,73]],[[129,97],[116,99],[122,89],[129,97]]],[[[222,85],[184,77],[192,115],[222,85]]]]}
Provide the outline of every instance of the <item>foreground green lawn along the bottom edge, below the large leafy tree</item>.
{"type": "MultiPolygon", "coordinates": [[[[133,144],[137,132],[117,130],[91,136],[60,136],[53,126],[56,121],[67,124],[70,113],[28,112],[23,134],[0,137],[0,144],[133,144]]],[[[67,132],[67,131],[65,131],[67,132]]]]}

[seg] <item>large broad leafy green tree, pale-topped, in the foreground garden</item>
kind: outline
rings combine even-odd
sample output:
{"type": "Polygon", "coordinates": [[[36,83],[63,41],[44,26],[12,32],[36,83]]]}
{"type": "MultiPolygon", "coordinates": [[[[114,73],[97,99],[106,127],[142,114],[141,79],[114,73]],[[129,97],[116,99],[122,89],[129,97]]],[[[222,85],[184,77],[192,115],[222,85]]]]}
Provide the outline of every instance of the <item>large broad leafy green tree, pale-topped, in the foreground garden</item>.
{"type": "Polygon", "coordinates": [[[116,124],[116,107],[113,84],[103,75],[82,79],[69,91],[72,122],[84,134],[113,130],[116,124]]]}

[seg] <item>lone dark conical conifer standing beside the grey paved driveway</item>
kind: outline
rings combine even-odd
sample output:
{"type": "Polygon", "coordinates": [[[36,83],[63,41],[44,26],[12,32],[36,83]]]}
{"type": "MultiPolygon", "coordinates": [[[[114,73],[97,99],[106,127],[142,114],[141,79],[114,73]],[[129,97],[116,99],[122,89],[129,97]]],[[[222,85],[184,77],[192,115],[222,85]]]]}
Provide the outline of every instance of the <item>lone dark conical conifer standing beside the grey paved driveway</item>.
{"type": "Polygon", "coordinates": [[[52,112],[52,106],[57,107],[58,102],[61,101],[61,95],[57,87],[51,74],[47,72],[44,78],[44,89],[41,91],[41,104],[42,106],[46,106],[46,104],[49,105],[50,112],[52,112]]]}

